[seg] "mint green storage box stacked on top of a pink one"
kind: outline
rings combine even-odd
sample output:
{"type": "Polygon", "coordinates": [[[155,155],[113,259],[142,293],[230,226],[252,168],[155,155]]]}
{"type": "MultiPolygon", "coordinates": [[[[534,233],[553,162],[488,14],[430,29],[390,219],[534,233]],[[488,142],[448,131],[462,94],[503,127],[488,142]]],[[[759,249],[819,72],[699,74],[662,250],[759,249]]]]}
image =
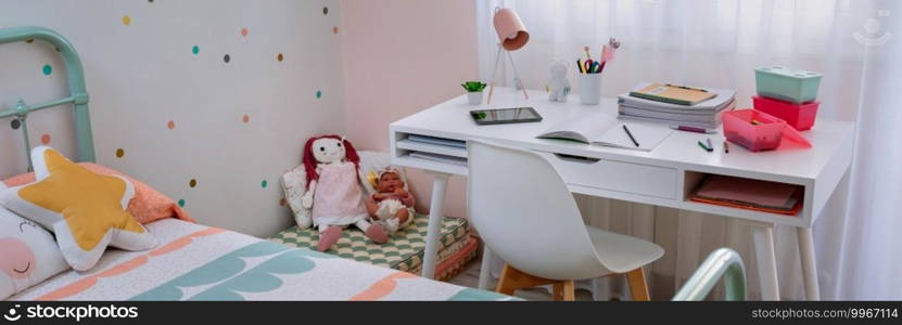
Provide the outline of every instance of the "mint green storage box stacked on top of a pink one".
{"type": "Polygon", "coordinates": [[[758,95],[801,104],[817,99],[821,74],[783,66],[754,69],[758,95]]]}

